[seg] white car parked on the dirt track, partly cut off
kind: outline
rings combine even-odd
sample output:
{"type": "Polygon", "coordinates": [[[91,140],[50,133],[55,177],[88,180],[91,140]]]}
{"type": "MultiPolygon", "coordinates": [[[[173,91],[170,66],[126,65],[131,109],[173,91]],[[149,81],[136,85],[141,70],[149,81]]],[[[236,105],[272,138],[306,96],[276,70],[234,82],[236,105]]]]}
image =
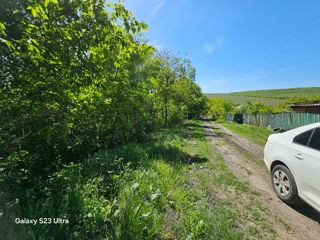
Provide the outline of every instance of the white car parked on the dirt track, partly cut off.
{"type": "Polygon", "coordinates": [[[302,199],[320,212],[320,123],[271,134],[264,161],[282,201],[297,205],[302,199]]]}

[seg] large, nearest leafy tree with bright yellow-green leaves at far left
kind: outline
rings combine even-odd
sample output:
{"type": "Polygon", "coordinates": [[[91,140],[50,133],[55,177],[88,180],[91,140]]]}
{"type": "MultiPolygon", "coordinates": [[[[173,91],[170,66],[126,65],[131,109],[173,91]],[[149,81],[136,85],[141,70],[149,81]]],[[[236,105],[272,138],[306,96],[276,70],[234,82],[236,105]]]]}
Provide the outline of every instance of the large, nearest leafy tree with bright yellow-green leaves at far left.
{"type": "Polygon", "coordinates": [[[115,106],[133,86],[131,57],[149,47],[135,38],[143,22],[121,3],[107,9],[102,0],[11,0],[2,9],[4,158],[30,155],[47,166],[123,141],[115,139],[122,128],[115,122],[123,118],[115,106]]]}

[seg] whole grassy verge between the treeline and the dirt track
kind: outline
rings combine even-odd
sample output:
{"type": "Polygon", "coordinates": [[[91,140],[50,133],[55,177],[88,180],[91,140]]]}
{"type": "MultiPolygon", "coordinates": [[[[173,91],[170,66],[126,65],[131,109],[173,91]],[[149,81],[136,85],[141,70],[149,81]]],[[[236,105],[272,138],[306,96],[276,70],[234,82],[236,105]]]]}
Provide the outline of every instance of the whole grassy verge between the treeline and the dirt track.
{"type": "Polygon", "coordinates": [[[16,211],[0,218],[5,238],[275,237],[255,193],[227,168],[197,121],[156,132],[143,144],[96,153],[46,179],[29,178],[32,185],[12,193],[16,211]],[[69,223],[16,225],[16,217],[69,223]]]}

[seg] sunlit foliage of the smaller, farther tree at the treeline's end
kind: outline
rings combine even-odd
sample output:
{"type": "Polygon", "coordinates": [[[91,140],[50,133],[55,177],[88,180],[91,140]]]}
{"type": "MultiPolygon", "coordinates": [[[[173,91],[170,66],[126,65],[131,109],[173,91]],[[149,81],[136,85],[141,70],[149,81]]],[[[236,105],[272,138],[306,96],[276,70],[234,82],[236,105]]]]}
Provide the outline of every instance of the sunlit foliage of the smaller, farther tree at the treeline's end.
{"type": "Polygon", "coordinates": [[[153,116],[161,116],[164,126],[184,118],[197,118],[206,110],[206,97],[195,84],[195,69],[190,60],[174,56],[170,51],[154,56],[156,71],[151,91],[153,116]]]}

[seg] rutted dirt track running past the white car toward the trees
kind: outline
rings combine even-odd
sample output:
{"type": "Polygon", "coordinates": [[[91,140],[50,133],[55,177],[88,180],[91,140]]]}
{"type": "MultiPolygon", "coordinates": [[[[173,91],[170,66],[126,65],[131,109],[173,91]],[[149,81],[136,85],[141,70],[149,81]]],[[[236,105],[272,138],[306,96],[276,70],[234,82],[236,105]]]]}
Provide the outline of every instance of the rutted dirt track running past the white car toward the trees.
{"type": "Polygon", "coordinates": [[[270,210],[269,221],[281,238],[320,239],[320,213],[306,204],[290,207],[274,193],[268,171],[261,162],[259,164],[263,162],[263,147],[219,124],[204,121],[203,127],[230,170],[260,193],[257,198],[270,210]]]}

